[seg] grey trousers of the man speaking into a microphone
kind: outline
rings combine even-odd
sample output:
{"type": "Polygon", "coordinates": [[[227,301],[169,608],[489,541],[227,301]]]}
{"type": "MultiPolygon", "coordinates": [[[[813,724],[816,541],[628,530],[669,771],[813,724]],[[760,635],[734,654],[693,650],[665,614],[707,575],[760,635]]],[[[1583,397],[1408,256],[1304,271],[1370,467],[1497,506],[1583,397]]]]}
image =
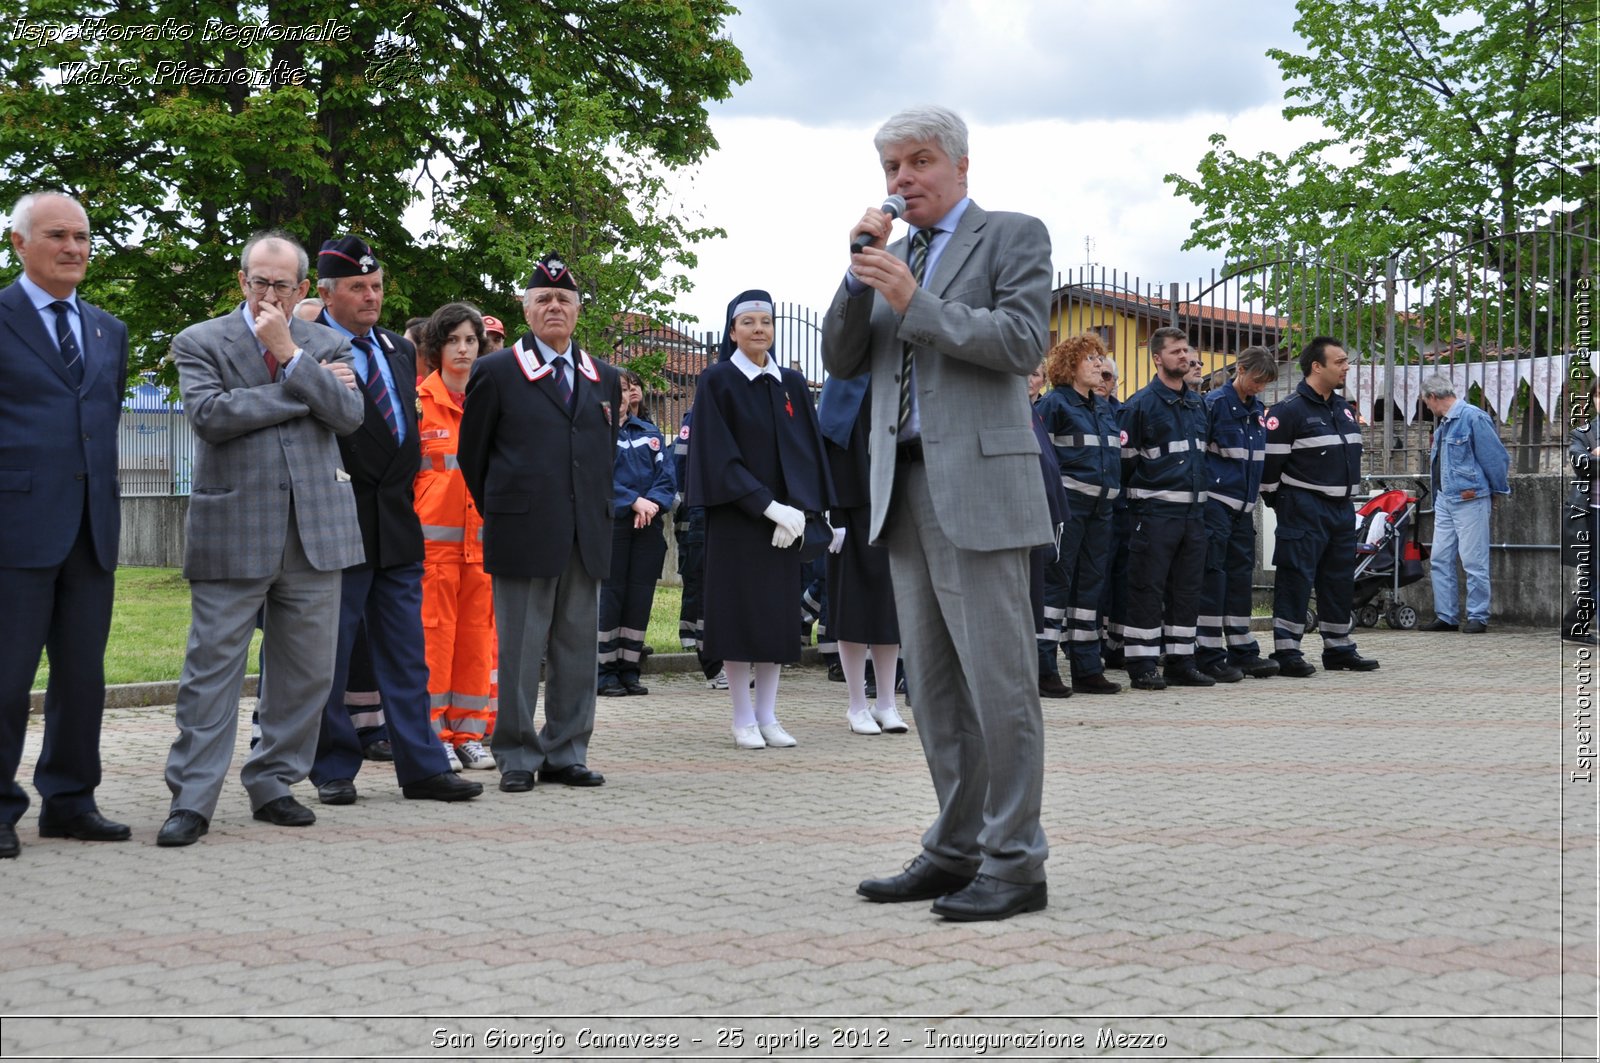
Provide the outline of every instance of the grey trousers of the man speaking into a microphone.
{"type": "Polygon", "coordinates": [[[885,538],[901,652],[939,797],[923,848],[958,874],[1043,882],[1045,722],[1029,549],[954,546],[920,461],[896,469],[890,506],[885,538]]]}

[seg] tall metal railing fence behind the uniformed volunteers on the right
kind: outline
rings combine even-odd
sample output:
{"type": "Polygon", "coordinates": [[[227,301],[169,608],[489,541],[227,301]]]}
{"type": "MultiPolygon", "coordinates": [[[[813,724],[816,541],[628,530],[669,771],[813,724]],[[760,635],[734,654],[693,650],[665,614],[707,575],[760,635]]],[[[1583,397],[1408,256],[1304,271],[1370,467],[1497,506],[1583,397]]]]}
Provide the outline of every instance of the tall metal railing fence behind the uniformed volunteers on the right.
{"type": "Polygon", "coordinates": [[[1346,392],[1368,424],[1370,474],[1427,472],[1432,416],[1421,383],[1430,373],[1496,418],[1517,471],[1552,471],[1570,424],[1589,418],[1595,250],[1594,219],[1563,215],[1405,261],[1277,247],[1181,285],[1080,267],[1058,282],[1051,338],[1099,333],[1117,355],[1123,397],[1149,379],[1146,343],[1163,325],[1189,333],[1208,384],[1261,344],[1285,362],[1270,402],[1299,381],[1293,360],[1306,339],[1328,335],[1355,363],[1346,392]]]}

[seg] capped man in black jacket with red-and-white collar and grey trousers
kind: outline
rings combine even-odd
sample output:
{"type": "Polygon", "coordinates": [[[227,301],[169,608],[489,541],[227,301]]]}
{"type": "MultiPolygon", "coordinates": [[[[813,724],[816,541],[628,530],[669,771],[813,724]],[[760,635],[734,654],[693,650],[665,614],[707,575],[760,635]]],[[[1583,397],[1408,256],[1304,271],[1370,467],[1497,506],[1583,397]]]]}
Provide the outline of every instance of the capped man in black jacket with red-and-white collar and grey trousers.
{"type": "Polygon", "coordinates": [[[563,786],[605,783],[584,762],[622,405],[618,371],[573,343],[578,283],[558,258],[534,266],[523,312],[533,333],[472,365],[458,450],[494,578],[501,704],[490,749],[506,792],[533,789],[534,773],[563,786]]]}

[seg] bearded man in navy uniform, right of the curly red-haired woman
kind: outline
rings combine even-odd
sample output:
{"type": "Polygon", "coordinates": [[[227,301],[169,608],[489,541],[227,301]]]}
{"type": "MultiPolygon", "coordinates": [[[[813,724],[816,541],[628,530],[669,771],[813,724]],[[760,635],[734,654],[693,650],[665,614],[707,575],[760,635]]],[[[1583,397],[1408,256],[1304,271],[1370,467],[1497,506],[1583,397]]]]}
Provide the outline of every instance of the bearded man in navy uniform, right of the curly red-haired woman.
{"type": "Polygon", "coordinates": [[[1205,573],[1205,407],[1189,387],[1189,335],[1150,333],[1155,375],[1122,407],[1122,483],[1128,491],[1128,616],[1123,655],[1139,690],[1211,687],[1195,668],[1205,573]],[[1157,661],[1166,653],[1165,674],[1157,661]]]}

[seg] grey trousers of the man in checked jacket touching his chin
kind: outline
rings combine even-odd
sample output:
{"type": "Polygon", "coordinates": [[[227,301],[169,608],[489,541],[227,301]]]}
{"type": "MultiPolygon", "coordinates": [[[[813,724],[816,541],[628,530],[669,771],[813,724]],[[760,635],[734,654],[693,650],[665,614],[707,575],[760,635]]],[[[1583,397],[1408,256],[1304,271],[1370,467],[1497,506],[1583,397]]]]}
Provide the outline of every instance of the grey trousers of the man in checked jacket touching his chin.
{"type": "Polygon", "coordinates": [[[339,642],[339,572],[310,567],[290,507],[283,564],[259,580],[192,580],[192,623],[178,682],[178,740],[166,754],[171,810],[206,821],[234,760],[238,695],[245,682],[256,613],[266,605],[261,744],[245,760],[240,781],[250,807],[290,794],[317,756],[322,708],[333,685],[339,642]]]}

